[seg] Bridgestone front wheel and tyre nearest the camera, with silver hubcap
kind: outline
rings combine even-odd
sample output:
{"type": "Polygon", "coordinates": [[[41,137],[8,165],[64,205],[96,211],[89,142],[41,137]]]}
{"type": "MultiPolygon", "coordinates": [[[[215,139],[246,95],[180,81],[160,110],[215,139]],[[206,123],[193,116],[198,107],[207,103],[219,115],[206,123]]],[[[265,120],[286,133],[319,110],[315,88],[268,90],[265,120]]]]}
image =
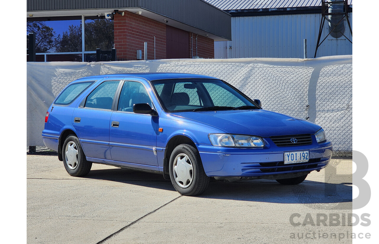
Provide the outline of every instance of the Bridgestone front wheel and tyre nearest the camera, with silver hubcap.
{"type": "Polygon", "coordinates": [[[209,185],[199,152],[193,146],[181,144],[172,151],[169,163],[172,185],[184,196],[202,194],[209,185]]]}

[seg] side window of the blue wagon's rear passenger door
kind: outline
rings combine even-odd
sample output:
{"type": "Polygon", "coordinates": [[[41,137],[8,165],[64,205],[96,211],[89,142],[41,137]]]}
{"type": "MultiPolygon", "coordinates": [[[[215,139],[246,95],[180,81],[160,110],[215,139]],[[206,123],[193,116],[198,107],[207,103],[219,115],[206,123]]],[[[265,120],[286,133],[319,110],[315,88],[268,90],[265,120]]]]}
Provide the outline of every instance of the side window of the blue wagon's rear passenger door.
{"type": "Polygon", "coordinates": [[[111,109],[119,81],[105,81],[89,93],[85,107],[111,109]]]}

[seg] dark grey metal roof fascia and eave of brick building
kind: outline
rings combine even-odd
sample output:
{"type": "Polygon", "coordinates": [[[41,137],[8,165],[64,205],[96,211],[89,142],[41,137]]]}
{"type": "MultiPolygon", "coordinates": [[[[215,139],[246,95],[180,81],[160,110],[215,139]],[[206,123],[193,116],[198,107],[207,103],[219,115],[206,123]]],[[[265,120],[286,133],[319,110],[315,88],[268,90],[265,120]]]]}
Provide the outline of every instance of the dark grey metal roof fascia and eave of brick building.
{"type": "Polygon", "coordinates": [[[231,40],[231,16],[203,0],[88,0],[76,2],[70,0],[28,0],[27,20],[34,17],[62,17],[94,15],[120,11],[143,11],[142,16],[158,22],[168,20],[166,25],[185,31],[207,36],[215,41],[231,40]],[[194,11],[193,9],[196,9],[194,11]],[[33,17],[28,17],[33,14],[33,17]]]}

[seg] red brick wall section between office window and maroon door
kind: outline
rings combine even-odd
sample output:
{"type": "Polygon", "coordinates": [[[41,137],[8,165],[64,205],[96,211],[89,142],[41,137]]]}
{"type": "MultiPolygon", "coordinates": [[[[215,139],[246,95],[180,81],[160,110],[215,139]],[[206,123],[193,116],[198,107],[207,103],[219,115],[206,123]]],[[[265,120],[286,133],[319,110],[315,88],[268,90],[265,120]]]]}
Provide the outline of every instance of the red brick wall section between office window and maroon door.
{"type": "Polygon", "coordinates": [[[128,11],[114,15],[114,47],[117,57],[136,60],[137,50],[142,50],[144,58],[144,42],[147,42],[147,59],[166,58],[166,25],[139,14],[128,11]]]}

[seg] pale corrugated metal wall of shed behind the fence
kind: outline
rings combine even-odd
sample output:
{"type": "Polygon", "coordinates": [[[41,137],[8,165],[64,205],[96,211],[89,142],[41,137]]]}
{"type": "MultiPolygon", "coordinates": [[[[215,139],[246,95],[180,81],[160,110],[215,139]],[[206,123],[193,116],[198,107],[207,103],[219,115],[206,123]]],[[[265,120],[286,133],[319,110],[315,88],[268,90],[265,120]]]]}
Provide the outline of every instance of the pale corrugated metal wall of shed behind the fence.
{"type": "MultiPolygon", "coordinates": [[[[349,20],[352,25],[352,13],[349,20]]],[[[215,58],[304,58],[304,39],[308,58],[313,58],[320,22],[321,14],[232,17],[232,41],[215,42],[215,58]]],[[[346,20],[344,23],[344,34],[352,40],[346,20]]],[[[321,40],[328,33],[325,21],[321,40]]],[[[316,57],[350,54],[352,44],[344,36],[335,39],[329,35],[316,57]]]]}

